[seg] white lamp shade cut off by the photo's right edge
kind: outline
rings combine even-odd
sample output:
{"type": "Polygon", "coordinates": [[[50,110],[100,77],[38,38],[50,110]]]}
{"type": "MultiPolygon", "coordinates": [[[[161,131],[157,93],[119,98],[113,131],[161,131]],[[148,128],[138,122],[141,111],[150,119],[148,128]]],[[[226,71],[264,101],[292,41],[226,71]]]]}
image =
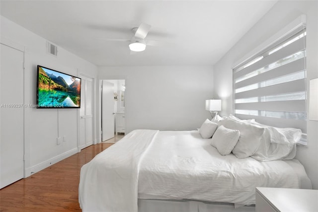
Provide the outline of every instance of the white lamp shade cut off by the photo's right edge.
{"type": "Polygon", "coordinates": [[[310,80],[309,120],[318,121],[318,78],[310,80]]]}

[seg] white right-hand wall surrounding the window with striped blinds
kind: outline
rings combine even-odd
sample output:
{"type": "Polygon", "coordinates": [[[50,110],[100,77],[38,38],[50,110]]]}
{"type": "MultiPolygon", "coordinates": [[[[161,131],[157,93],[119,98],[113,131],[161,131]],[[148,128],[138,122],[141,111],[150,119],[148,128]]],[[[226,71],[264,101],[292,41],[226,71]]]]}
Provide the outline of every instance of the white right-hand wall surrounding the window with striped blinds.
{"type": "MultiPolygon", "coordinates": [[[[307,78],[318,77],[318,1],[278,1],[214,66],[214,95],[221,97],[221,115],[233,113],[232,68],[235,63],[302,14],[307,15],[307,78]]],[[[309,80],[307,82],[309,88],[309,80]]],[[[318,122],[308,121],[308,147],[298,146],[304,164],[318,189],[318,122]]]]}

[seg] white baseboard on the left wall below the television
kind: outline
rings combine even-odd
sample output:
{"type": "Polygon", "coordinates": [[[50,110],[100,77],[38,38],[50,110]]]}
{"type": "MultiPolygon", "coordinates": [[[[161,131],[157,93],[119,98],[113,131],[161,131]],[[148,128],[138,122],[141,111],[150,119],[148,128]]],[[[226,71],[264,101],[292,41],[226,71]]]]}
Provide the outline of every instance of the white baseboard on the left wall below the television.
{"type": "Polygon", "coordinates": [[[30,175],[38,172],[38,171],[41,171],[41,170],[43,170],[43,169],[45,169],[45,168],[47,168],[47,167],[49,167],[49,166],[61,161],[61,160],[64,160],[65,158],[68,158],[68,157],[72,156],[73,154],[76,154],[76,153],[78,153],[78,148],[77,147],[73,148],[73,149],[71,149],[69,151],[66,151],[66,152],[64,152],[62,154],[59,154],[59,155],[57,155],[55,157],[52,157],[51,159],[48,159],[48,160],[46,160],[46,161],[44,161],[42,163],[39,163],[39,164],[37,164],[35,166],[32,166],[30,168],[26,168],[25,169],[25,177],[28,177],[28,176],[30,176],[30,175]]]}

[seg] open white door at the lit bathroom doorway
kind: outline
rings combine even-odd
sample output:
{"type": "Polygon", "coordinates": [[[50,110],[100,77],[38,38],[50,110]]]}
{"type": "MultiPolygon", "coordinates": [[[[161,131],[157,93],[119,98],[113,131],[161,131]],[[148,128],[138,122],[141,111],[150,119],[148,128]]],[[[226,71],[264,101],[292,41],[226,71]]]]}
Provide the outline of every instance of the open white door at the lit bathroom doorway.
{"type": "Polygon", "coordinates": [[[114,138],[114,84],[103,80],[102,89],[102,141],[114,138]]]}

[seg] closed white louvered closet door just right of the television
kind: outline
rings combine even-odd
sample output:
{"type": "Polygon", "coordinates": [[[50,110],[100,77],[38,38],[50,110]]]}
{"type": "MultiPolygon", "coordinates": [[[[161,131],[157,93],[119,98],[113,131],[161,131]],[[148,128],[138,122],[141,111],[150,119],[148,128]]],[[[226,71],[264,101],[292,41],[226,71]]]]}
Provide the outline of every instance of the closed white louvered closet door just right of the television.
{"type": "Polygon", "coordinates": [[[79,149],[93,144],[93,79],[79,75],[80,109],[79,109],[79,149]]]}

